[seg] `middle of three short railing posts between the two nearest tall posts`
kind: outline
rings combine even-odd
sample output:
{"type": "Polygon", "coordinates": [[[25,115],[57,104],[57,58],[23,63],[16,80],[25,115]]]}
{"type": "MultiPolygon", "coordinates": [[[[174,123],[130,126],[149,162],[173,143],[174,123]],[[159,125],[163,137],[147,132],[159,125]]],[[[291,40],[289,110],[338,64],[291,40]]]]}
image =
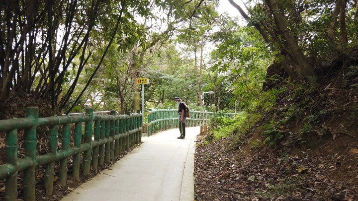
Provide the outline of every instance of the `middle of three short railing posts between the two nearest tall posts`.
{"type": "MultiPolygon", "coordinates": [[[[70,140],[71,140],[71,124],[63,125],[61,136],[61,150],[67,151],[70,149],[70,140]]],[[[67,162],[68,159],[65,158],[60,161],[60,171],[59,171],[59,180],[62,187],[67,186],[67,162]]]]}

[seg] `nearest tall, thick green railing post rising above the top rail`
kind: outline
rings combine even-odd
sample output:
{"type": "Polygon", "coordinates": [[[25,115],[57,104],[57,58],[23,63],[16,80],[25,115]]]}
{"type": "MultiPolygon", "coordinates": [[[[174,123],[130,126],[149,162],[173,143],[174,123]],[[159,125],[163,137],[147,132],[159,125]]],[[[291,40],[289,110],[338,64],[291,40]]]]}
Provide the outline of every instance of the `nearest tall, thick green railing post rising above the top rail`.
{"type": "MultiPolygon", "coordinates": [[[[28,107],[27,108],[27,117],[31,121],[38,121],[38,108],[37,107],[28,107]]],[[[24,133],[24,147],[25,147],[25,157],[30,158],[32,161],[36,161],[36,127],[32,127],[25,130],[24,133]]],[[[31,166],[24,170],[23,172],[23,183],[24,183],[24,200],[25,201],[35,201],[35,167],[31,166]]]]}

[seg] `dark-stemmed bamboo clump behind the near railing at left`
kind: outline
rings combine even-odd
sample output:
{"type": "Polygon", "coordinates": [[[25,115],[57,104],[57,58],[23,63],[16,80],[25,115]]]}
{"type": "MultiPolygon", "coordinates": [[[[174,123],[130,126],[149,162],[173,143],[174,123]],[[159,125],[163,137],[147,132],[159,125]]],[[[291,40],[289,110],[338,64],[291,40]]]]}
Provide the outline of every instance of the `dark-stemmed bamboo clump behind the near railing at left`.
{"type": "Polygon", "coordinates": [[[62,109],[91,56],[91,34],[101,27],[96,23],[104,16],[115,17],[114,35],[125,8],[125,1],[1,1],[0,97],[6,98],[12,90],[33,91],[37,99],[50,99],[54,111],[68,70],[76,70],[58,103],[62,109]]]}

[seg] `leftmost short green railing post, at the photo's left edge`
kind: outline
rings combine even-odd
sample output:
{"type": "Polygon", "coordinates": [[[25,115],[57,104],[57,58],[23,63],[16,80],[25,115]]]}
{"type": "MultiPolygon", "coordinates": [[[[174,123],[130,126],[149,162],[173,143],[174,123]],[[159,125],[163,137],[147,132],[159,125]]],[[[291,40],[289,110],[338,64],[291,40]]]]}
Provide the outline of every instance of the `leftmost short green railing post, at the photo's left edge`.
{"type": "MultiPolygon", "coordinates": [[[[6,132],[5,163],[16,165],[17,162],[17,129],[6,132]]],[[[17,199],[17,172],[6,177],[5,201],[15,201],[17,199]]]]}

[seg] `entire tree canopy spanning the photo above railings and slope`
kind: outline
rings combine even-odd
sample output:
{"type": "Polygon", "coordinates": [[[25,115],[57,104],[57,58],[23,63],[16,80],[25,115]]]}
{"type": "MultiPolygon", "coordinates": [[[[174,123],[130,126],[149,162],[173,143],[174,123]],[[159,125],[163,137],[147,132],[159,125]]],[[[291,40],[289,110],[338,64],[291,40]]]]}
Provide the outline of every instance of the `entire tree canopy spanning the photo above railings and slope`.
{"type": "Polygon", "coordinates": [[[201,107],[214,91],[205,104],[219,111],[287,77],[315,87],[338,63],[357,63],[356,0],[228,1],[246,25],[217,0],[1,1],[0,98],[124,113],[140,107],[136,78],[148,77],[148,108],[174,96],[201,107]]]}

